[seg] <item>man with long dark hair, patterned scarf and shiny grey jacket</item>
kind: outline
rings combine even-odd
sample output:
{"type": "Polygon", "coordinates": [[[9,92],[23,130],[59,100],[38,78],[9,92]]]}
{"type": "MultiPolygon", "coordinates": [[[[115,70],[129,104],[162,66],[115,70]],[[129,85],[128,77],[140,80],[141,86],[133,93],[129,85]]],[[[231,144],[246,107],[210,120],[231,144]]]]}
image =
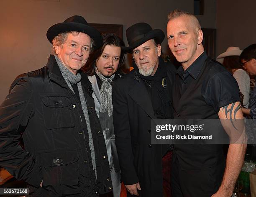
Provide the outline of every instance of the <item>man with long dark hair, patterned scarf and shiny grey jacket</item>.
{"type": "Polygon", "coordinates": [[[82,70],[90,75],[88,79],[92,83],[95,110],[100,118],[108,151],[113,197],[119,197],[121,189],[120,166],[115,146],[112,117],[112,82],[121,77],[120,69],[125,60],[125,54],[121,47],[125,45],[118,36],[112,33],[104,33],[102,38],[103,46],[90,54],[82,70]]]}

